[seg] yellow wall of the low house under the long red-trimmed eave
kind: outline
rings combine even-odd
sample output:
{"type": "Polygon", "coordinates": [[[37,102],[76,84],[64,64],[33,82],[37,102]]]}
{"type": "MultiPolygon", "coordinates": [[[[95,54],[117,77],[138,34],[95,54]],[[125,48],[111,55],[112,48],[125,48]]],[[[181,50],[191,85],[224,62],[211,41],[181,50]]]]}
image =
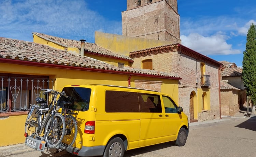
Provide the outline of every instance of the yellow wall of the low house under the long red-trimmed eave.
{"type": "MultiPolygon", "coordinates": [[[[100,72],[89,72],[69,69],[57,69],[35,66],[15,65],[0,63],[0,73],[24,74],[24,75],[46,75],[55,78],[54,89],[61,90],[65,85],[74,84],[108,84],[128,87],[129,75],[110,74],[100,72]]],[[[161,92],[166,93],[178,102],[178,81],[152,78],[152,77],[131,77],[131,87],[135,87],[134,80],[162,81],[161,92]]],[[[24,113],[26,114],[26,113],[24,113]]],[[[27,115],[10,115],[3,117],[0,114],[0,146],[24,143],[24,126],[27,115]],[[3,129],[4,126],[4,129],[3,129]]]]}

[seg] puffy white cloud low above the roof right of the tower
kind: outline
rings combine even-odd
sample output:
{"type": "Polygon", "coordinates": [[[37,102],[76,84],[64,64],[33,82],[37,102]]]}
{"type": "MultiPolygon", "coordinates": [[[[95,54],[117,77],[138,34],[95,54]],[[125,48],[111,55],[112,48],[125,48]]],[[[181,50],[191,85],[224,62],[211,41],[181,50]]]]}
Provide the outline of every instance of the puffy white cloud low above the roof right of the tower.
{"type": "Polygon", "coordinates": [[[232,49],[232,45],[226,42],[227,36],[218,32],[209,37],[198,33],[181,35],[181,43],[203,55],[229,55],[241,53],[238,49],[232,49]]]}

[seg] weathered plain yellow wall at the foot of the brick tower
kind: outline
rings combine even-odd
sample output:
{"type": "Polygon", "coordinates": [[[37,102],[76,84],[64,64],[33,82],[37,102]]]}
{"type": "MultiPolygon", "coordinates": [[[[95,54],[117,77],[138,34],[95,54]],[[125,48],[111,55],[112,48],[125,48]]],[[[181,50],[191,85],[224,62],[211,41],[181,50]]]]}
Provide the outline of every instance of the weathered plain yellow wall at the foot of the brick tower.
{"type": "Polygon", "coordinates": [[[160,41],[137,37],[127,37],[125,35],[95,32],[95,43],[112,52],[129,56],[129,52],[146,48],[170,45],[170,41],[160,41]]]}

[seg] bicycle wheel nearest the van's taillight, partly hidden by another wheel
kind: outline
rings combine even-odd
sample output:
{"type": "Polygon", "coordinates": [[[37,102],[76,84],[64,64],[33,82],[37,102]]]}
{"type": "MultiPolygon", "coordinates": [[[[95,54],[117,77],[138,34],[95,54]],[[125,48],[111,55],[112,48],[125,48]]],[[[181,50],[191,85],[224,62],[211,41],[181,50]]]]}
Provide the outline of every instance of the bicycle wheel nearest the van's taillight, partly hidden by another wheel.
{"type": "Polygon", "coordinates": [[[61,149],[70,148],[74,144],[77,135],[77,123],[75,117],[67,115],[65,119],[66,128],[65,135],[60,143],[61,149]]]}

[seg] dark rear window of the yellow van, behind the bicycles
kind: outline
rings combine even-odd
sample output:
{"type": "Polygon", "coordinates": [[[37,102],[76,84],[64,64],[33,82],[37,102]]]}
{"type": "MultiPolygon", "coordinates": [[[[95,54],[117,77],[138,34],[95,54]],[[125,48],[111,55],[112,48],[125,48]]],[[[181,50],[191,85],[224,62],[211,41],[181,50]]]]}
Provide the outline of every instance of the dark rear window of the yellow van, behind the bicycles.
{"type": "Polygon", "coordinates": [[[61,97],[58,100],[58,104],[62,106],[62,101],[68,101],[72,103],[70,109],[78,111],[87,111],[89,109],[91,89],[83,87],[65,87],[62,91],[65,91],[66,97],[61,97]]]}

